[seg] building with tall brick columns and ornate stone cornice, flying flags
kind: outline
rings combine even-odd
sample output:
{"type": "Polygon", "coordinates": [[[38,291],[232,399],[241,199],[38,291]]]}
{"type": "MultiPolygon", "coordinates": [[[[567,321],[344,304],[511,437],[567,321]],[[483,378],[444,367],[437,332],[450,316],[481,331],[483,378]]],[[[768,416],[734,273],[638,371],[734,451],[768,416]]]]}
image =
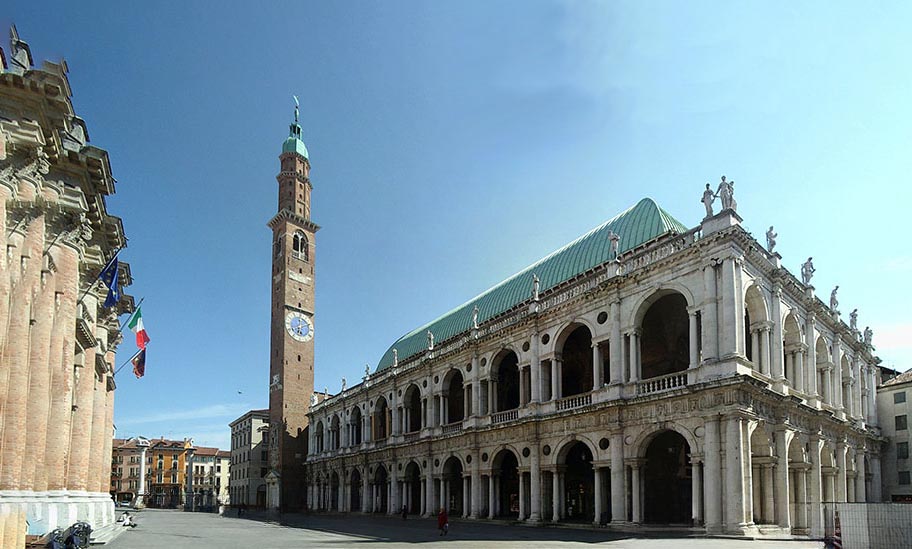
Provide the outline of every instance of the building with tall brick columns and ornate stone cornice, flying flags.
{"type": "MultiPolygon", "coordinates": [[[[108,493],[117,315],[96,279],[126,246],[107,153],[73,110],[65,62],[0,55],[0,546],[114,520],[108,493]]],[[[130,284],[120,263],[120,285],[130,284]]]]}

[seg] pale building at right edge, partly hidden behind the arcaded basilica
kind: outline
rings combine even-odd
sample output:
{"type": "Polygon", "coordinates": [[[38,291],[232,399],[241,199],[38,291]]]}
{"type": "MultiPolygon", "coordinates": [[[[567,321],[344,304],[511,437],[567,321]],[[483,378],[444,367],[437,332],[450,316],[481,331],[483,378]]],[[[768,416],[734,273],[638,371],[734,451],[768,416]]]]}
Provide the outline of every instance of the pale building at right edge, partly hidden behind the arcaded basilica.
{"type": "Polygon", "coordinates": [[[885,381],[877,389],[877,409],[884,446],[884,499],[912,503],[912,460],[909,459],[909,418],[912,417],[912,370],[885,381]]]}

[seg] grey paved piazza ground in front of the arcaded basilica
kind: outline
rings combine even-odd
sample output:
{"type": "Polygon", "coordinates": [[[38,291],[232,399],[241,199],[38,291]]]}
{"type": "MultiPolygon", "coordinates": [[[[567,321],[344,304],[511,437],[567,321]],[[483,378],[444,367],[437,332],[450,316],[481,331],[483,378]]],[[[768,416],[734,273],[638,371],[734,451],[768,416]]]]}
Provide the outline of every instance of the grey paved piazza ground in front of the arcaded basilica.
{"type": "MultiPolygon", "coordinates": [[[[301,516],[287,515],[283,524],[264,517],[219,517],[203,513],[149,509],[137,514],[135,529],[123,532],[108,546],[112,549],[183,549],[212,547],[412,547],[415,543],[435,543],[450,547],[590,547],[600,544],[613,548],[635,549],[750,549],[787,547],[819,548],[821,543],[807,541],[752,541],[745,539],[707,539],[665,537],[661,533],[625,534],[574,528],[533,528],[493,522],[452,522],[450,534],[441,538],[436,519],[403,521],[389,517],[301,516]],[[646,538],[645,535],[651,537],[646,538]]],[[[680,534],[685,536],[686,534],[680,534]]]]}

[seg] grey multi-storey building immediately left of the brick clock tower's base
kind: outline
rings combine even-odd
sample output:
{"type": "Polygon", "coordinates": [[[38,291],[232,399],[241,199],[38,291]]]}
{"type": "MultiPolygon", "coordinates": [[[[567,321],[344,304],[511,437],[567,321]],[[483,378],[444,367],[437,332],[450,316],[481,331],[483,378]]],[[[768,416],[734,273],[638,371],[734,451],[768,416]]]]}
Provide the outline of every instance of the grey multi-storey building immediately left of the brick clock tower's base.
{"type": "Polygon", "coordinates": [[[229,497],[232,505],[266,506],[269,410],[251,410],[231,424],[229,497]]]}

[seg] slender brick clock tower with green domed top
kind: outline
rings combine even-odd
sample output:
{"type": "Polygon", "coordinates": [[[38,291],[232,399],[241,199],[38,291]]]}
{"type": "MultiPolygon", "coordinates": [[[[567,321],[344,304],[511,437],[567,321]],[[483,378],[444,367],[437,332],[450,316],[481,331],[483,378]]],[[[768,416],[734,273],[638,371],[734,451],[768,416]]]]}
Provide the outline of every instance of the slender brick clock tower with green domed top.
{"type": "Polygon", "coordinates": [[[310,219],[310,160],[294,122],[279,155],[278,213],[272,229],[272,331],[269,352],[270,508],[304,501],[307,410],[314,389],[314,252],[318,227],[310,219]]]}

